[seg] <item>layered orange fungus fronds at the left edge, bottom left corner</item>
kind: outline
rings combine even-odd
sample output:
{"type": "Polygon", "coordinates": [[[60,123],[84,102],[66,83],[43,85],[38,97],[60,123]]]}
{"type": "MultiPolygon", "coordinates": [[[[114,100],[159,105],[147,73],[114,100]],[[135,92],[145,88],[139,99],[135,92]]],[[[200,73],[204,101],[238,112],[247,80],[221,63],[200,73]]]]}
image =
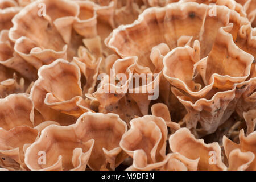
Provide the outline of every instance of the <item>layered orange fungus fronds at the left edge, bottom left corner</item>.
{"type": "Polygon", "coordinates": [[[20,169],[27,169],[24,164],[24,151],[36,140],[44,127],[56,124],[52,121],[40,125],[38,123],[34,104],[28,94],[10,94],[0,99],[0,154],[6,156],[3,168],[11,169],[18,164],[20,169]],[[34,127],[35,124],[38,126],[34,127]],[[7,164],[9,158],[13,162],[7,164]]]}

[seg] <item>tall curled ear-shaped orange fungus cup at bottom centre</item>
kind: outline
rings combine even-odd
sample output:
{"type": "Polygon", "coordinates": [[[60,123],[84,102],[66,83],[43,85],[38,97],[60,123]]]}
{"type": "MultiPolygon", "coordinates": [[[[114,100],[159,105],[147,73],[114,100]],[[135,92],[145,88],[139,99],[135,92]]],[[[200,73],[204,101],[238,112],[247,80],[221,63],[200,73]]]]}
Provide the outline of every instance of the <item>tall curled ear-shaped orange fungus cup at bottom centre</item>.
{"type": "Polygon", "coordinates": [[[166,163],[166,122],[154,115],[145,115],[130,121],[130,129],[120,142],[120,147],[133,158],[128,169],[152,170],[166,163]]]}

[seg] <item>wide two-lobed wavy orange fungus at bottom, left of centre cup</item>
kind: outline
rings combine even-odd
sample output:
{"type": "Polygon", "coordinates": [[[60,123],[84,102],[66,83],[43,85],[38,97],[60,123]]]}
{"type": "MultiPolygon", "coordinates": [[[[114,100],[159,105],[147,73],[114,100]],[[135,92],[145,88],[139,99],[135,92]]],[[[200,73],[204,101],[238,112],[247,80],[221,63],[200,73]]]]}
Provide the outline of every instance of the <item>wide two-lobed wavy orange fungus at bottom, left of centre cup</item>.
{"type": "Polygon", "coordinates": [[[85,113],[69,126],[50,125],[27,148],[31,170],[114,169],[126,155],[119,141],[127,125],[116,114],[85,113]],[[42,163],[38,163],[39,152],[42,163]]]}

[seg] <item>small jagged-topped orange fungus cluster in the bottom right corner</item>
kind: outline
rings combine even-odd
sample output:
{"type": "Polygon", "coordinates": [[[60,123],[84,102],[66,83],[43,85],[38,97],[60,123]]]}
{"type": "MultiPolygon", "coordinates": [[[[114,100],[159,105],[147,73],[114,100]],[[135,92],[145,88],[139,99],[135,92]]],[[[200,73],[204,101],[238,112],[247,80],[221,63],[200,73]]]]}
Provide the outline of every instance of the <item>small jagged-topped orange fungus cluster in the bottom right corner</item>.
{"type": "Polygon", "coordinates": [[[224,136],[223,146],[229,160],[230,170],[256,170],[256,131],[245,137],[245,132],[240,130],[240,144],[236,144],[224,136]]]}

